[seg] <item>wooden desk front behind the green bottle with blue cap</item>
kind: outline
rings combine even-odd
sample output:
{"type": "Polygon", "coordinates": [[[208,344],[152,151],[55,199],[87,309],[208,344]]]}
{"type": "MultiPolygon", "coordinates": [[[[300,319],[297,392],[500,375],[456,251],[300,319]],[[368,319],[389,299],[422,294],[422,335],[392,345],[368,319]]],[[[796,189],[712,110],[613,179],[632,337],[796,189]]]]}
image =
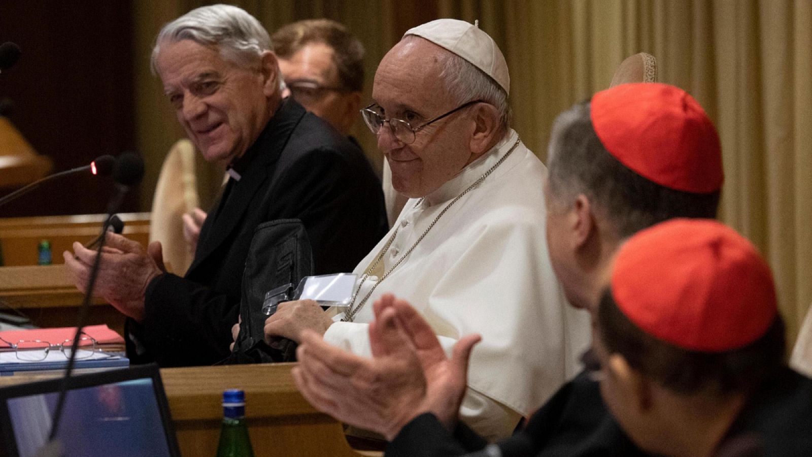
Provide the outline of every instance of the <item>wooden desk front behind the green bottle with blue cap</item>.
{"type": "MultiPolygon", "coordinates": [[[[184,457],[211,457],[222,421],[222,391],[245,391],[248,434],[256,457],[359,457],[380,452],[354,450],[343,426],[307,403],[293,383],[295,363],[225,367],[164,368],[164,390],[184,457]]],[[[51,376],[0,377],[0,385],[51,376]]]]}

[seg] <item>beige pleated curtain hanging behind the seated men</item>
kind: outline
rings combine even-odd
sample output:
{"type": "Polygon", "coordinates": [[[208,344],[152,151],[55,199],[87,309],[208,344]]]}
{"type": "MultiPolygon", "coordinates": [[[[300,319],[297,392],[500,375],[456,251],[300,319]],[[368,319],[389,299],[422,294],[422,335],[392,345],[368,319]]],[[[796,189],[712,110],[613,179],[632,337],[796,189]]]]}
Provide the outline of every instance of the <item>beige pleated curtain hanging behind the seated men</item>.
{"type": "MultiPolygon", "coordinates": [[[[513,124],[542,159],[555,115],[604,89],[628,55],[659,61],[661,81],[706,107],[722,139],[726,181],[720,219],[769,259],[788,337],[812,302],[812,2],[808,0],[364,0],[237,2],[269,30],[290,20],[348,24],[374,68],[414,11],[480,20],[512,77],[513,124]],[[410,13],[404,14],[404,13],[410,13]],[[405,17],[408,16],[408,17],[405,17]],[[404,19],[405,17],[405,19],[404,19]]],[[[165,154],[182,135],[146,58],[161,24],[191,0],[136,2],[142,150],[165,154]]],[[[356,124],[376,163],[374,139],[356,124]]],[[[149,163],[157,176],[161,160],[149,163]]],[[[153,176],[153,175],[149,175],[153,176]]]]}

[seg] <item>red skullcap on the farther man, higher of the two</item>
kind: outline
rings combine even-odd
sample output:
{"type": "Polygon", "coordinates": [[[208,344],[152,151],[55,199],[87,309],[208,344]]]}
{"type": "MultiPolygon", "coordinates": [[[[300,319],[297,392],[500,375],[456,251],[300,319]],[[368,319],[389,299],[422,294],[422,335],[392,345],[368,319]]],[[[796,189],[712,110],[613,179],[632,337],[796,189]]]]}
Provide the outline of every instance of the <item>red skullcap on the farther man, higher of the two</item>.
{"type": "Polygon", "coordinates": [[[638,175],[696,194],[721,189],[719,136],[685,90],[658,83],[617,85],[595,94],[590,111],[603,146],[638,175]]]}

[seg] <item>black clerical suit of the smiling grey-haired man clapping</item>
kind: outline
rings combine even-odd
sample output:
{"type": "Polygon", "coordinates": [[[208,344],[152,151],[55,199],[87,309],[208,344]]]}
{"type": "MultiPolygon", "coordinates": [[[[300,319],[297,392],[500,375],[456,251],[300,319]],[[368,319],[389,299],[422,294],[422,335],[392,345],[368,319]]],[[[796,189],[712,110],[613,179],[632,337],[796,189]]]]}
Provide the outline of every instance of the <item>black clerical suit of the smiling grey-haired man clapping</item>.
{"type": "Polygon", "coordinates": [[[204,365],[229,354],[257,225],[301,220],[316,274],[351,272],[387,232],[380,181],[361,150],[292,98],[232,168],[240,179],[232,174],[209,211],[186,275],[151,281],[144,321],[128,322],[136,362],[204,365]]]}

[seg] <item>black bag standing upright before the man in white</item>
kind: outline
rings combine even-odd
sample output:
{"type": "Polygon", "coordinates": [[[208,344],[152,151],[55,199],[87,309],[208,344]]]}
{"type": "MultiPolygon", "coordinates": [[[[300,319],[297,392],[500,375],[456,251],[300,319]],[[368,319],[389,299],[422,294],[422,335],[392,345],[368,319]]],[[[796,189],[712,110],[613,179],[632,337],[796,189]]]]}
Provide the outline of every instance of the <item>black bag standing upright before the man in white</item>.
{"type": "Polygon", "coordinates": [[[289,285],[290,294],[311,272],[310,242],[299,220],[272,220],[257,227],[245,260],[240,333],[222,364],[296,361],[296,342],[277,337],[266,344],[263,329],[268,316],[262,305],[269,290],[289,285]]]}

